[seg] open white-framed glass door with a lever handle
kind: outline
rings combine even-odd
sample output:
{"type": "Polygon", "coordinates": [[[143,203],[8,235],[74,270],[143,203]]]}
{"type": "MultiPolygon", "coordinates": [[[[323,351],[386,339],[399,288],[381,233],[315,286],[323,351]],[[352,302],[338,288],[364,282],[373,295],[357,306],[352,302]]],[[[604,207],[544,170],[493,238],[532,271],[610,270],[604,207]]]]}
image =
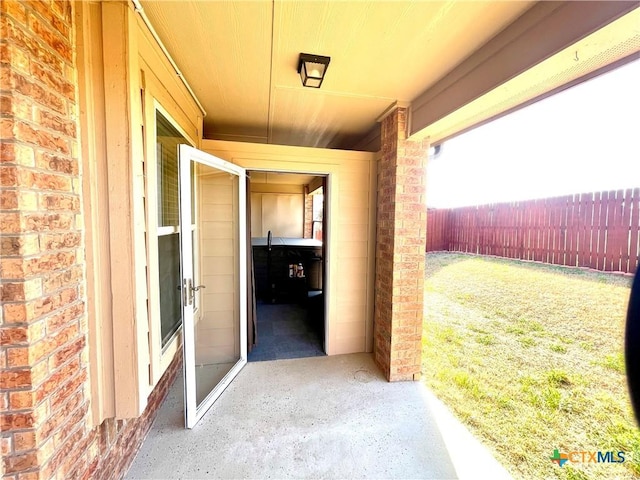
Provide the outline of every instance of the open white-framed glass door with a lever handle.
{"type": "Polygon", "coordinates": [[[247,363],[245,170],[180,145],[185,425],[247,363]]]}

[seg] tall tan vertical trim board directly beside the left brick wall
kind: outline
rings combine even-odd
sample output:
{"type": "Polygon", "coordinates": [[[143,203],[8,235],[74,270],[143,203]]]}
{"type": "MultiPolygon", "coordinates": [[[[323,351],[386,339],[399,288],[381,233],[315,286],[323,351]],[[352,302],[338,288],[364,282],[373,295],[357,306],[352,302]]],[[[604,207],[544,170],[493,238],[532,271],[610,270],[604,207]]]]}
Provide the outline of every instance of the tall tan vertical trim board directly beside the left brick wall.
{"type": "MultiPolygon", "coordinates": [[[[101,5],[79,3],[76,34],[85,225],[86,307],[94,426],[115,415],[111,253],[101,5]]],[[[0,467],[2,468],[2,467],[0,467]]]]}

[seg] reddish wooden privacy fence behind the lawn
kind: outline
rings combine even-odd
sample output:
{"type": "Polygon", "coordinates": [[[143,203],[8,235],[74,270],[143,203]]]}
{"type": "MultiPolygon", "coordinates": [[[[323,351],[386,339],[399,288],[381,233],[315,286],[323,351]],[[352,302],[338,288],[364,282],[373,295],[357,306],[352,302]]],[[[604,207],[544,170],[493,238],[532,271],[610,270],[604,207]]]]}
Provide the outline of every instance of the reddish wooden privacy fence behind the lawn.
{"type": "Polygon", "coordinates": [[[427,251],[635,273],[640,188],[427,212],[427,251]]]}

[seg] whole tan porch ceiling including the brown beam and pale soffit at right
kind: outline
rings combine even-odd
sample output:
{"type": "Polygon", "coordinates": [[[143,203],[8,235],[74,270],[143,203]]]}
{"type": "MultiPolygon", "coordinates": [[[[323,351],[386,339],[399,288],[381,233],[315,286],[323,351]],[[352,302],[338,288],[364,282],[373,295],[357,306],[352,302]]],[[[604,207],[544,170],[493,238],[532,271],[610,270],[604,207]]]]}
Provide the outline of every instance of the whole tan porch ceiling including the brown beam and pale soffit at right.
{"type": "Polygon", "coordinates": [[[403,105],[437,143],[640,51],[635,1],[134,3],[210,139],[377,150],[403,105]],[[331,57],[322,88],[302,86],[301,52],[331,57]]]}

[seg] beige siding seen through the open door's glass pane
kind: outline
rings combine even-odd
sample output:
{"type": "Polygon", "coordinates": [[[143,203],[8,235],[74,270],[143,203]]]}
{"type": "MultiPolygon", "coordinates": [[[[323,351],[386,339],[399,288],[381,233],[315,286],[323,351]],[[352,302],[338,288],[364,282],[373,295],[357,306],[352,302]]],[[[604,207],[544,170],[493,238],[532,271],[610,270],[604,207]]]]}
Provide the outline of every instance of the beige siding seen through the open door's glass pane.
{"type": "Polygon", "coordinates": [[[238,177],[200,166],[197,176],[196,237],[199,282],[196,295],[196,365],[239,357],[238,177]]]}

